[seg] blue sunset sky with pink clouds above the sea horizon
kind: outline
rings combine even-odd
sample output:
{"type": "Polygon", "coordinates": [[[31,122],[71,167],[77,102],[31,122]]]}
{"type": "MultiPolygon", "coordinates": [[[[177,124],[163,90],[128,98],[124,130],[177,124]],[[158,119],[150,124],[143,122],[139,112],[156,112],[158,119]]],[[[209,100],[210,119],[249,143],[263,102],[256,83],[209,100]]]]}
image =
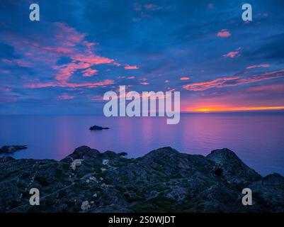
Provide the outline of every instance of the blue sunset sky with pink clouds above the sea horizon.
{"type": "Polygon", "coordinates": [[[244,3],[1,0],[0,114],[101,114],[120,85],[181,92],[181,111],[284,109],[284,1],[249,1],[246,22],[244,3]]]}

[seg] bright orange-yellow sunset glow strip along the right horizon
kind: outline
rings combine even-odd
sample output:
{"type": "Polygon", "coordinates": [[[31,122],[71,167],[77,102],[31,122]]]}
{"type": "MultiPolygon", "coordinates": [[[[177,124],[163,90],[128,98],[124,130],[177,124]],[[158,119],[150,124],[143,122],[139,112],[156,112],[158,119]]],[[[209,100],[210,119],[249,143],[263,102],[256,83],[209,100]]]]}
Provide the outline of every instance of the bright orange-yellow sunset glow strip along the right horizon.
{"type": "Polygon", "coordinates": [[[208,112],[229,112],[229,111],[268,111],[282,110],[284,106],[249,106],[249,107],[206,107],[198,109],[187,109],[186,112],[208,113],[208,112]]]}

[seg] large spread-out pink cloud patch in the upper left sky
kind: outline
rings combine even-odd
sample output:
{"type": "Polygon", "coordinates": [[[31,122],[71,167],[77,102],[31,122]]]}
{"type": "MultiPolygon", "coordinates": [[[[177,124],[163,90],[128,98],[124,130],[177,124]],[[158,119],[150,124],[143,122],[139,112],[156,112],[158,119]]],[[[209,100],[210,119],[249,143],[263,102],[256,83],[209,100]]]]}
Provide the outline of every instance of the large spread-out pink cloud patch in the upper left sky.
{"type": "Polygon", "coordinates": [[[97,43],[87,41],[86,33],[79,33],[66,23],[48,23],[47,29],[50,32],[47,37],[40,34],[20,36],[8,31],[1,35],[0,42],[12,45],[15,53],[23,56],[21,60],[6,60],[4,63],[23,67],[36,65],[34,69],[39,75],[46,72],[55,77],[56,82],[52,84],[67,84],[77,70],[84,70],[84,77],[95,74],[95,69],[87,70],[95,65],[121,66],[109,57],[98,55],[94,48],[97,43]],[[57,65],[62,57],[69,57],[71,62],[57,65]]]}

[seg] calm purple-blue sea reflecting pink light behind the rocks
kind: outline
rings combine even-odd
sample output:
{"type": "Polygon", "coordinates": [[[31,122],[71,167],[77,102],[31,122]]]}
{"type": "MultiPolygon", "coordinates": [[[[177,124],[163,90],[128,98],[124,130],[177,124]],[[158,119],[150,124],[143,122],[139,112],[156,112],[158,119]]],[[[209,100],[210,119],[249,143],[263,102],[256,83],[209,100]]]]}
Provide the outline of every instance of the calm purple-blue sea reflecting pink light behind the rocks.
{"type": "Polygon", "coordinates": [[[284,175],[284,114],[182,114],[166,118],[104,116],[0,116],[0,146],[28,145],[15,158],[60,160],[81,145],[139,157],[171,146],[181,153],[208,155],[229,148],[261,175],[284,175]],[[89,131],[93,125],[110,127],[89,131]]]}

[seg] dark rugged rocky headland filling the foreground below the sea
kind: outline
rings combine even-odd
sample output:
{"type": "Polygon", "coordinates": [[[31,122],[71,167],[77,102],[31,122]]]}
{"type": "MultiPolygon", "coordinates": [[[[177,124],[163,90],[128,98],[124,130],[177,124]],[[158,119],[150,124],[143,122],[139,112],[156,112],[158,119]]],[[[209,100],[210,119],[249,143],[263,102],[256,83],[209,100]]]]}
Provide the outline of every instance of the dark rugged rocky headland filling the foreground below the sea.
{"type": "Polygon", "coordinates": [[[83,146],[61,161],[0,159],[0,212],[283,212],[284,177],[261,177],[231,150],[160,148],[136,159],[83,146]],[[242,189],[253,205],[242,205],[242,189]],[[40,190],[30,206],[29,190],[40,190]]]}

